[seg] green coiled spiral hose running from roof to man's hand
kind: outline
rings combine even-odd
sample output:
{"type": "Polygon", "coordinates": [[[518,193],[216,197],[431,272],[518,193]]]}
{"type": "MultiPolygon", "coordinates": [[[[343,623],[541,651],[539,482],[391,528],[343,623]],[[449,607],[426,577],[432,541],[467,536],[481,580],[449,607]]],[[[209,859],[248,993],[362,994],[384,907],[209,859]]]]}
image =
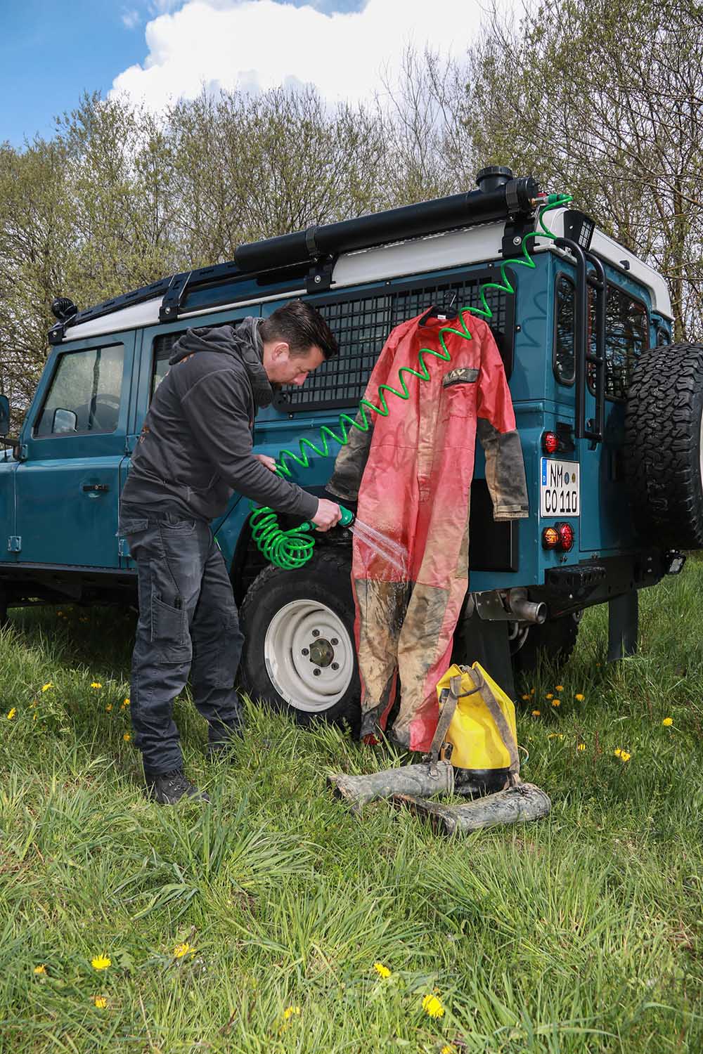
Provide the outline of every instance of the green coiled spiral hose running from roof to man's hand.
{"type": "MultiPolygon", "coordinates": [[[[313,454],[318,457],[329,457],[330,456],[330,446],[329,440],[333,440],[338,446],[344,446],[349,438],[349,432],[352,428],[357,428],[360,432],[368,432],[371,417],[367,415],[368,411],[373,411],[379,414],[382,417],[387,417],[390,410],[388,408],[388,403],[386,402],[385,392],[390,392],[392,395],[396,395],[397,398],[407,402],[410,398],[410,392],[408,391],[408,386],[403,376],[404,373],[410,376],[417,377],[418,380],[429,380],[430,374],[425,363],[425,355],[433,355],[435,358],[441,358],[445,363],[451,362],[451,355],[447,349],[445,343],[444,334],[453,333],[456,336],[463,337],[465,340],[471,339],[471,333],[466,327],[466,321],[464,320],[464,314],[474,314],[480,315],[482,318],[490,319],[493,317],[493,312],[491,311],[488,301],[486,299],[486,291],[489,289],[496,289],[501,292],[514,295],[515,289],[510,281],[506,268],[508,266],[527,267],[534,270],[536,267],[534,260],[530,256],[527,250],[528,239],[534,239],[539,237],[551,238],[552,240],[558,237],[558,235],[552,234],[543,223],[543,216],[547,212],[551,212],[552,209],[559,209],[564,204],[567,204],[571,200],[570,194],[549,194],[546,198],[546,203],[540,209],[538,214],[538,227],[539,230],[529,231],[523,236],[521,241],[522,253],[520,256],[511,257],[510,259],[504,260],[501,264],[501,281],[486,281],[483,282],[479,288],[479,295],[481,297],[481,307],[471,308],[464,307],[461,308],[457,314],[457,321],[461,325],[461,330],[455,329],[454,326],[442,326],[440,328],[440,344],[442,345],[442,351],[434,351],[432,348],[421,348],[417,358],[419,360],[419,370],[413,370],[411,367],[403,366],[398,370],[398,380],[401,383],[402,391],[396,388],[392,388],[390,385],[379,385],[378,387],[378,402],[380,406],[375,406],[370,403],[367,398],[362,398],[358,405],[358,413],[360,415],[360,421],[355,421],[348,413],[339,414],[339,434],[328,428],[327,425],[323,425],[319,430],[321,448],[315,446],[310,440],[301,438],[298,440],[298,453],[293,453],[292,450],[279,450],[278,457],[276,460],[276,469],[278,475],[290,476],[292,475],[292,470],[288,465],[287,458],[291,458],[300,468],[310,467],[310,458],[306,453],[305,448],[308,447],[313,454]]],[[[302,567],[310,558],[312,557],[315,539],[310,531],[312,531],[312,524],[300,524],[299,527],[293,527],[290,530],[281,530],[278,526],[278,520],[276,513],[268,505],[263,507],[257,507],[253,502],[251,503],[253,512],[250,516],[250,524],[252,528],[252,538],[258,546],[259,550],[263,553],[267,560],[276,567],[284,568],[285,570],[293,570],[296,567],[302,567]]],[[[343,510],[343,519],[340,523],[343,525],[351,523],[352,515],[348,509],[343,510]],[[345,516],[346,514],[346,516],[345,516]],[[348,518],[348,519],[346,519],[348,518]]]]}

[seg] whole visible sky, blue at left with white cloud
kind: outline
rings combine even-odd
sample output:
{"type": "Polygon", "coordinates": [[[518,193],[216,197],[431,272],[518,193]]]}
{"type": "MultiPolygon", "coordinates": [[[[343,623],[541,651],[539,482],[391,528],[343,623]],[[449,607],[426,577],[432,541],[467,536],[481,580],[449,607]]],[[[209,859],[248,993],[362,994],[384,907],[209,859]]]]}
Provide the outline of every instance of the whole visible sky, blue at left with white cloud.
{"type": "Polygon", "coordinates": [[[0,0],[0,141],[51,137],[84,91],[154,111],[203,84],[367,100],[408,43],[460,55],[485,3],[432,0],[428,19],[427,0],[0,0]]]}

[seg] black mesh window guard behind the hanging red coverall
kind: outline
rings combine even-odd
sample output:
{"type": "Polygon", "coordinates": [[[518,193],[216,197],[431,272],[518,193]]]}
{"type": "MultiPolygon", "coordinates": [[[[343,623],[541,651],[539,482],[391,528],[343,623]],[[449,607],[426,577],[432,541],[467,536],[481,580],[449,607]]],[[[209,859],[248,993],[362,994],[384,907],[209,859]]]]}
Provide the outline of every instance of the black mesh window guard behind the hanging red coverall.
{"type": "MultiPolygon", "coordinates": [[[[444,308],[449,314],[461,307],[480,306],[480,286],[497,278],[495,271],[474,271],[455,275],[451,280],[435,279],[423,285],[413,282],[311,300],[337,338],[339,354],[311,373],[301,388],[284,388],[275,397],[274,406],[288,413],[356,406],[364,395],[376,358],[395,326],[421,315],[433,305],[438,310],[444,308]]],[[[514,285],[512,276],[510,279],[514,285]]],[[[515,298],[490,289],[486,291],[486,299],[493,312],[490,327],[509,377],[515,298]]]]}

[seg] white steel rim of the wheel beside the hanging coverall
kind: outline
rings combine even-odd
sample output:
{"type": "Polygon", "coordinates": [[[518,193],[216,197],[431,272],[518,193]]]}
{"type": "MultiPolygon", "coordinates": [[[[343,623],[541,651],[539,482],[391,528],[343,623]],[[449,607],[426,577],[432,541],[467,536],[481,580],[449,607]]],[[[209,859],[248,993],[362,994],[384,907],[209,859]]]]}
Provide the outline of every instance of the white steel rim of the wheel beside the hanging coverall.
{"type": "Polygon", "coordinates": [[[338,703],[354,672],[347,627],[314,600],[291,601],[275,613],[263,639],[263,660],[278,695],[306,714],[323,714],[338,703]]]}

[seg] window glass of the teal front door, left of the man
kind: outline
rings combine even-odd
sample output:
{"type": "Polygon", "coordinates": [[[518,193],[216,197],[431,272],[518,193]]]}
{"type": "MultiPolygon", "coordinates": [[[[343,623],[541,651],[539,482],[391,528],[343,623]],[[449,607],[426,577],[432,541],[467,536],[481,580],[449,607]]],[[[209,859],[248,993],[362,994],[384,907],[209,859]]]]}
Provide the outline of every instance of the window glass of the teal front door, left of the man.
{"type": "Polygon", "coordinates": [[[60,355],[33,434],[41,437],[114,432],[123,365],[121,344],[60,355]]]}

